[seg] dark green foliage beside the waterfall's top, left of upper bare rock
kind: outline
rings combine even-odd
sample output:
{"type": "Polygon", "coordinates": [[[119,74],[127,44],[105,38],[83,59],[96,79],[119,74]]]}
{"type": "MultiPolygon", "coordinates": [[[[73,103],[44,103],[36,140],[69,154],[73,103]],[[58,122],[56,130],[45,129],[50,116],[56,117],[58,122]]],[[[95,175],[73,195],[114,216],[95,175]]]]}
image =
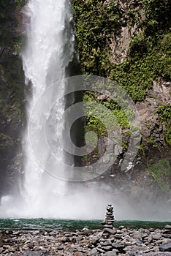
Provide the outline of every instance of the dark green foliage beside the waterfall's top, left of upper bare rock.
{"type": "Polygon", "coordinates": [[[107,76],[109,60],[107,40],[119,34],[121,11],[115,1],[73,0],[77,43],[83,74],[107,76]]]}

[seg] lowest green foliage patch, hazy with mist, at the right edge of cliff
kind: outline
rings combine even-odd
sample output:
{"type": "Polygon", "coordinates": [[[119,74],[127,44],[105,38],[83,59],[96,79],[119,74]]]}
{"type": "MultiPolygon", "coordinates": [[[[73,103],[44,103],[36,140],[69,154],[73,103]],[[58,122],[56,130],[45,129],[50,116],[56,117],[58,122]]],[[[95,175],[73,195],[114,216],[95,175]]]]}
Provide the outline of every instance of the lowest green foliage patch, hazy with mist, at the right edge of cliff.
{"type": "Polygon", "coordinates": [[[164,158],[156,164],[148,165],[146,171],[151,173],[151,176],[163,192],[168,192],[171,189],[171,165],[169,159],[164,158]]]}

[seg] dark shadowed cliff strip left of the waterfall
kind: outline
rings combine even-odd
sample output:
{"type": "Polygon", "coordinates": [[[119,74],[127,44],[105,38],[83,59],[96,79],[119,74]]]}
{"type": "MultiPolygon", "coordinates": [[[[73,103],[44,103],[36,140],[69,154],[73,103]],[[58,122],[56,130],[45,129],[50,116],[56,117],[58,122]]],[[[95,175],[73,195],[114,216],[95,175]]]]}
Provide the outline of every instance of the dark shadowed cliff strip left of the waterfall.
{"type": "Polygon", "coordinates": [[[21,172],[24,78],[19,56],[17,1],[0,3],[0,197],[17,183],[21,172]]]}

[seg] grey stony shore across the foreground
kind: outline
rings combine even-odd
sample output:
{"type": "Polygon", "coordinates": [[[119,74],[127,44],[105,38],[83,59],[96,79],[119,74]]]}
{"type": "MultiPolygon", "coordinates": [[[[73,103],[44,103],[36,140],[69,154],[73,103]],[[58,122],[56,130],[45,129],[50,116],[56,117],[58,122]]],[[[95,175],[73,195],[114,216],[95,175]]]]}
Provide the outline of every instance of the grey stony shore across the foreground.
{"type": "Polygon", "coordinates": [[[0,230],[0,255],[171,255],[171,226],[163,229],[0,230]]]}

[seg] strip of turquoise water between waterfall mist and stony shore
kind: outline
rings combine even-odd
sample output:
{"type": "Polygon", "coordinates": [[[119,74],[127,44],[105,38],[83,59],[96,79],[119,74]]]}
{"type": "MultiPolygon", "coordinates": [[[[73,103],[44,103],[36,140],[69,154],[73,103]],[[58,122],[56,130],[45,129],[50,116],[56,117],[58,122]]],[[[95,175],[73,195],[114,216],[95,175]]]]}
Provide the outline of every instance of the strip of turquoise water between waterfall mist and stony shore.
{"type": "MultiPolygon", "coordinates": [[[[70,219],[0,219],[0,228],[16,229],[90,229],[102,228],[102,220],[70,220],[70,219]]],[[[149,221],[115,221],[114,226],[125,227],[153,227],[162,228],[171,222],[149,222],[149,221]]]]}

